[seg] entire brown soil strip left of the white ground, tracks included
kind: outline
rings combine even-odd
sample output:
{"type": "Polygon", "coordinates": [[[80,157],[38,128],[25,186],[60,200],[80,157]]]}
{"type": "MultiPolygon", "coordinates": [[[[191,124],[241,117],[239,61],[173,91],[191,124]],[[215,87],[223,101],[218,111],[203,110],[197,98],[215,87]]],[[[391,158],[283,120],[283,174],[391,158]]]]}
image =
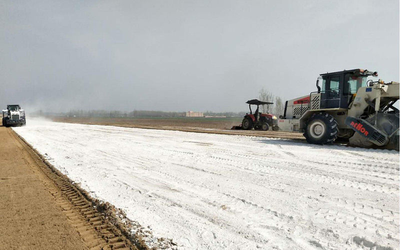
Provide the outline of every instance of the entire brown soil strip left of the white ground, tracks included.
{"type": "Polygon", "coordinates": [[[148,249],[123,213],[92,199],[0,127],[0,249],[148,249]]]}

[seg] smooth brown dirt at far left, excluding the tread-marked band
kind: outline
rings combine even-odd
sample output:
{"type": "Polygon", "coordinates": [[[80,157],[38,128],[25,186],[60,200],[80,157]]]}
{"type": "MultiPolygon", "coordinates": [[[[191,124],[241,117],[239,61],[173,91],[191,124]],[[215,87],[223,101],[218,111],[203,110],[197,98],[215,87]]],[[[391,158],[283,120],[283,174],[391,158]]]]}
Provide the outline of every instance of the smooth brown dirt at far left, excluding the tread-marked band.
{"type": "Polygon", "coordinates": [[[86,249],[11,130],[0,138],[0,249],[86,249]]]}

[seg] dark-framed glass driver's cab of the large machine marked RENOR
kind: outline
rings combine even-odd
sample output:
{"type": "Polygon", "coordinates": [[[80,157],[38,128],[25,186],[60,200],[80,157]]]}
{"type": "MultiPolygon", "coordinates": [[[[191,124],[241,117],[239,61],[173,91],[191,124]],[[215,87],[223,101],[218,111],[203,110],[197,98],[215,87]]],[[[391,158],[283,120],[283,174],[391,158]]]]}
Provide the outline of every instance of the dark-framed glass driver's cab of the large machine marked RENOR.
{"type": "Polygon", "coordinates": [[[366,86],[368,75],[377,76],[377,72],[352,69],[320,74],[322,86],[317,83],[320,108],[348,108],[358,88],[366,86]]]}

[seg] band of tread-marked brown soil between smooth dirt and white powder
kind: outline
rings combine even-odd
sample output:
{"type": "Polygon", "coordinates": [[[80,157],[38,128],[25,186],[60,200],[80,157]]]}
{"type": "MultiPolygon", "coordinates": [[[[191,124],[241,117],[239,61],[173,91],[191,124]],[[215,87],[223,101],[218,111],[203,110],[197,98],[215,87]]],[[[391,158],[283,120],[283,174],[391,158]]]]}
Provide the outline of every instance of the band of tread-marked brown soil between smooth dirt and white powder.
{"type": "Polygon", "coordinates": [[[111,222],[108,216],[96,208],[96,202],[84,194],[65,175],[55,169],[40,153],[37,152],[22,137],[11,129],[8,130],[19,141],[18,147],[26,150],[37,168],[48,180],[43,181],[46,190],[61,207],[69,223],[80,234],[83,242],[90,250],[145,250],[148,249],[141,239],[132,239],[127,232],[122,232],[120,226],[111,222]]]}

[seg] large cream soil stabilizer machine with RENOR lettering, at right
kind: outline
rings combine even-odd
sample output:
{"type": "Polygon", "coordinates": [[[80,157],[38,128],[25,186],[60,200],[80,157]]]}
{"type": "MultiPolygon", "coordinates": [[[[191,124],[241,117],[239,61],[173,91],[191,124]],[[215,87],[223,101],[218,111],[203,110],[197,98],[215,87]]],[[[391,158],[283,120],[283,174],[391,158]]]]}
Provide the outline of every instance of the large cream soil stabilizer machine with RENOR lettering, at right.
{"type": "Polygon", "coordinates": [[[313,144],[348,141],[350,146],[399,149],[398,82],[367,80],[376,71],[320,74],[317,91],[285,102],[278,129],[303,132],[313,144]],[[319,81],[322,80],[322,86],[319,81]]]}

